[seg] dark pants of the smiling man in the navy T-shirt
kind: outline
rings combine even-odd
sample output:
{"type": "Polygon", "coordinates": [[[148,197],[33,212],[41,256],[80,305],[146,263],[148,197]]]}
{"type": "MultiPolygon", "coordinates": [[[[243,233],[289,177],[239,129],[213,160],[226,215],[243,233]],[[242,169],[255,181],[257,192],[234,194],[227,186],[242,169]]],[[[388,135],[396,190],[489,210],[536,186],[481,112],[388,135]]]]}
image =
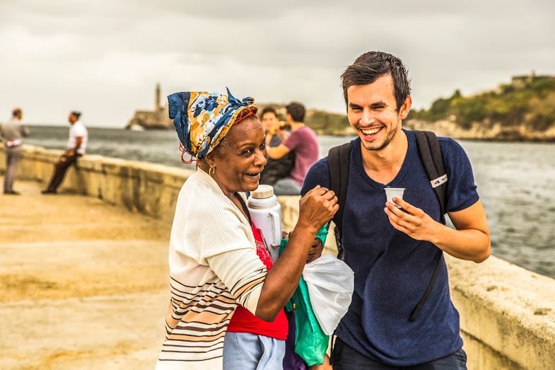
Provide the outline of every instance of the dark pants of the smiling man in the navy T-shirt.
{"type": "Polygon", "coordinates": [[[390,366],[369,359],[337,338],[334,344],[333,366],[334,370],[466,370],[467,354],[462,349],[459,349],[454,354],[426,362],[426,364],[390,366]]]}

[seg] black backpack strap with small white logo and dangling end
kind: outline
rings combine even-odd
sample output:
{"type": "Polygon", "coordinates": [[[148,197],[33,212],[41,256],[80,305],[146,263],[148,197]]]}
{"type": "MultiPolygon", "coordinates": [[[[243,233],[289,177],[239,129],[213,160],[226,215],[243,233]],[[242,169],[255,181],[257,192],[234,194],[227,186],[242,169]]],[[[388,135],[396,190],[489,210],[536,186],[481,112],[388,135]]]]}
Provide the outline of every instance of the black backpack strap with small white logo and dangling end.
{"type": "MultiPolygon", "coordinates": [[[[414,130],[414,135],[416,136],[416,145],[418,146],[420,158],[426,168],[426,174],[430,180],[430,184],[433,190],[436,192],[440,206],[440,221],[445,224],[445,206],[447,204],[447,173],[445,172],[445,166],[443,166],[443,156],[441,154],[441,148],[439,146],[438,137],[431,131],[417,131],[414,130]]],[[[436,267],[433,269],[432,277],[430,279],[430,284],[424,292],[419,303],[414,308],[411,313],[409,320],[414,321],[418,317],[422,306],[426,303],[428,296],[430,296],[433,285],[436,284],[436,279],[438,279],[438,270],[441,261],[441,256],[443,251],[438,248],[436,252],[435,260],[436,267]]]]}

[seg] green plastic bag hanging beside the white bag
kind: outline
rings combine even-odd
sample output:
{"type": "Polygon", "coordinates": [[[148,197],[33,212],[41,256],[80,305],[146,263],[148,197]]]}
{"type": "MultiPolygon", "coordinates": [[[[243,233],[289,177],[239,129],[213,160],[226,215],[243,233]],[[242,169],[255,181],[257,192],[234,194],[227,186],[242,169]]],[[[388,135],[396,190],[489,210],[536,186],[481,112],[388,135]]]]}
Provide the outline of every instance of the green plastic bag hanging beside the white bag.
{"type": "MultiPolygon", "coordinates": [[[[284,252],[284,248],[289,239],[283,239],[280,246],[280,254],[284,252]]],[[[308,287],[305,279],[300,277],[297,289],[288,301],[286,311],[295,310],[295,353],[303,359],[308,366],[321,365],[324,363],[324,357],[329,342],[329,335],[326,335],[314,315],[310,298],[308,296],[308,287]]]]}

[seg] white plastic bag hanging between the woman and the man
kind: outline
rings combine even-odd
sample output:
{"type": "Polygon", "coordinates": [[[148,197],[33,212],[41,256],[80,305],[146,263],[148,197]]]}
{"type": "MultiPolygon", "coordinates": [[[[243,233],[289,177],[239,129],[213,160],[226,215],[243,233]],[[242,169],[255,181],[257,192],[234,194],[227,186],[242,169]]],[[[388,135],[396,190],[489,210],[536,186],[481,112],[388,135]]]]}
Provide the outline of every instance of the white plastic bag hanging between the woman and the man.
{"type": "Polygon", "coordinates": [[[333,255],[322,255],[305,265],[303,277],[320,328],[332,335],[351,304],[354,272],[333,255]]]}

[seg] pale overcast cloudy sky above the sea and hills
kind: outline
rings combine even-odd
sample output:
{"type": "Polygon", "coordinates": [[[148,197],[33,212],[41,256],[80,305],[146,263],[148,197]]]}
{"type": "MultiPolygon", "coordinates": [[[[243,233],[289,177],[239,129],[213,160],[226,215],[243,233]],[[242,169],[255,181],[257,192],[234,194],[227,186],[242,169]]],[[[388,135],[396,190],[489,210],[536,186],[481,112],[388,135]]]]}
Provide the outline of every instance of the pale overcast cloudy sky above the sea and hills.
{"type": "Polygon", "coordinates": [[[344,111],[339,76],[382,50],[409,69],[416,108],[455,88],[555,74],[551,0],[0,0],[0,120],[124,127],[154,86],[298,100],[344,111]]]}

